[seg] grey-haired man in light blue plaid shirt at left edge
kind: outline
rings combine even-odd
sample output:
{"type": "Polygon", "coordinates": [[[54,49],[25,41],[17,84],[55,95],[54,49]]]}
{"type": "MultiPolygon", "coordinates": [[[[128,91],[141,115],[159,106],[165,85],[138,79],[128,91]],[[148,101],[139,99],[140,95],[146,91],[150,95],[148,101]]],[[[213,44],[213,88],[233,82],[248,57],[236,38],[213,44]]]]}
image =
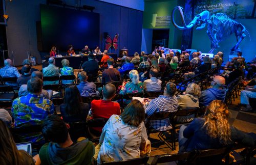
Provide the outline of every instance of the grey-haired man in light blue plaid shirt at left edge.
{"type": "MultiPolygon", "coordinates": [[[[5,60],[5,67],[0,69],[0,76],[2,77],[20,77],[18,69],[12,66],[12,61],[10,59],[5,60]]],[[[8,86],[17,86],[16,82],[6,82],[8,86]]]]}

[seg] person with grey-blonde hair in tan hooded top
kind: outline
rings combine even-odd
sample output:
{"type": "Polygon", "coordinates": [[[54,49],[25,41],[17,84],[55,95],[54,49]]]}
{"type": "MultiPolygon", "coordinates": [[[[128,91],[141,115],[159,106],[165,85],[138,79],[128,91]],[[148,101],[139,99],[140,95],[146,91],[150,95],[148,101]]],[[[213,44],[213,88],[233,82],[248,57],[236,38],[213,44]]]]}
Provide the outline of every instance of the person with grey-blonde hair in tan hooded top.
{"type": "MultiPolygon", "coordinates": [[[[194,82],[187,85],[183,95],[178,95],[179,108],[199,108],[199,97],[201,96],[201,88],[194,82]]],[[[178,110],[179,111],[179,110],[178,110]]],[[[190,122],[195,118],[195,115],[178,116],[174,120],[177,123],[190,122]]]]}

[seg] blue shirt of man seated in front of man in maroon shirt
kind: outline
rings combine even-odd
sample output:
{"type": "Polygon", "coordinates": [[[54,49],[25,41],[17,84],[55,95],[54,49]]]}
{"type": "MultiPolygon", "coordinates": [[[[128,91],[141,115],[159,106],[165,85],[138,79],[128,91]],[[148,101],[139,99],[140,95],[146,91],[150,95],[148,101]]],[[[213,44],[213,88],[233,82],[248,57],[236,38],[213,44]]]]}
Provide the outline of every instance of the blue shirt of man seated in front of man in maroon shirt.
{"type": "Polygon", "coordinates": [[[96,85],[93,82],[82,81],[77,88],[83,97],[96,96],[96,85]]]}

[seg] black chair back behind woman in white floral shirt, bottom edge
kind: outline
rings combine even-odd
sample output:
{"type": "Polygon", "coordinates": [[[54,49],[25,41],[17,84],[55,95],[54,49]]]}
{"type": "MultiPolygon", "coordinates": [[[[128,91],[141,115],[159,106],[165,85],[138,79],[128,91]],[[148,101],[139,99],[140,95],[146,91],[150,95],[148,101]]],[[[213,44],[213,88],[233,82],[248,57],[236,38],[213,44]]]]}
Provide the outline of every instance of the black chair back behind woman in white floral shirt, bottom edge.
{"type": "Polygon", "coordinates": [[[139,157],[135,159],[128,159],[128,160],[120,160],[120,161],[113,161],[113,162],[104,162],[103,164],[111,164],[111,165],[130,165],[130,164],[147,164],[148,157],[139,157]]]}

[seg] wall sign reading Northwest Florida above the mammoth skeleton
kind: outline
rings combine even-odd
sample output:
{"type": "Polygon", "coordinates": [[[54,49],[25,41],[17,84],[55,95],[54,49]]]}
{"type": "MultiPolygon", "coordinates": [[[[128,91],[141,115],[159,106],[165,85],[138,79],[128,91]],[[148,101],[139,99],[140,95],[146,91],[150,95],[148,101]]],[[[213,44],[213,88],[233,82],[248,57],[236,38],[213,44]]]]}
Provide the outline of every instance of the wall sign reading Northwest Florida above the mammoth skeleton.
{"type": "Polygon", "coordinates": [[[210,15],[224,13],[231,19],[256,18],[255,3],[252,0],[198,0],[194,7],[195,16],[208,10],[210,15]]]}

